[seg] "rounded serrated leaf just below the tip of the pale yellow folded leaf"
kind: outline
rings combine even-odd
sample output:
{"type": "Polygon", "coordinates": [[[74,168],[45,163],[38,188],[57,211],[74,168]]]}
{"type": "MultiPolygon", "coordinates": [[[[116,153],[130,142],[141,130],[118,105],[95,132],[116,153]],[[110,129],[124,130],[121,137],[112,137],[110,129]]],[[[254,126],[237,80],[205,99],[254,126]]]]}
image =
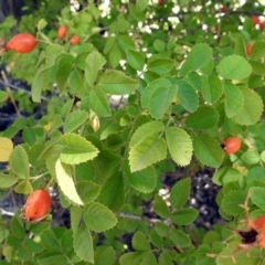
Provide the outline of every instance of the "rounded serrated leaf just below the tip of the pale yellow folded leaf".
{"type": "Polygon", "coordinates": [[[116,216],[99,202],[91,202],[83,214],[86,226],[94,232],[104,232],[114,227],[117,223],[116,216]]]}

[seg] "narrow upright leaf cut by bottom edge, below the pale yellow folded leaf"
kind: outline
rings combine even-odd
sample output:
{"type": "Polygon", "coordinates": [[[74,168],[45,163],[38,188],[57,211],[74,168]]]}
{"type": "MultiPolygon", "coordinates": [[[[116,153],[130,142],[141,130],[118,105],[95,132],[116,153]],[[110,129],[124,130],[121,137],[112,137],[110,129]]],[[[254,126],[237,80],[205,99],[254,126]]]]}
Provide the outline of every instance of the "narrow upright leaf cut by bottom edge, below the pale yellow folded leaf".
{"type": "Polygon", "coordinates": [[[82,224],[74,234],[74,250],[82,261],[94,264],[94,247],[91,231],[82,224]]]}

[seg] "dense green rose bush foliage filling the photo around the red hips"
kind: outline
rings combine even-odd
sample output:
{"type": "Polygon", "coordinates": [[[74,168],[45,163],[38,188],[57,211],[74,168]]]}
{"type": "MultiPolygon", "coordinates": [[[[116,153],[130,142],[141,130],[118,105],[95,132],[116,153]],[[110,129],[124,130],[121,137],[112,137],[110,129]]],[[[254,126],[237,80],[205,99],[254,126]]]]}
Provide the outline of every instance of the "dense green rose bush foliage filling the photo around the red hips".
{"type": "Polygon", "coordinates": [[[7,71],[31,91],[0,91],[0,107],[18,114],[0,131],[0,188],[57,189],[71,227],[51,226],[51,215],[1,221],[0,264],[264,263],[263,230],[242,223],[265,210],[264,6],[77,2],[73,11],[68,1],[25,1],[19,21],[1,23],[6,40],[30,32],[38,45],[28,54],[2,46],[7,71]],[[242,141],[235,153],[223,147],[231,136],[242,141]],[[209,231],[197,227],[190,198],[205,167],[223,218],[209,231]],[[176,170],[173,184],[165,183],[176,170]],[[258,236],[248,243],[227,227],[258,236]]]}

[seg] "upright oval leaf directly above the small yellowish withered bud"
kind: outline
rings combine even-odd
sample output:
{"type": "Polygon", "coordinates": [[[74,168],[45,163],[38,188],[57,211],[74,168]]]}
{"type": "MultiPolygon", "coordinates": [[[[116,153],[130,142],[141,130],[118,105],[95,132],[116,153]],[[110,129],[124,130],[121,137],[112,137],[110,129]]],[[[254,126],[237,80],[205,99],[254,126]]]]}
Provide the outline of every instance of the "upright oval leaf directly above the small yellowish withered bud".
{"type": "Polygon", "coordinates": [[[96,86],[89,94],[89,107],[102,117],[109,117],[112,115],[109,104],[106,95],[102,88],[96,86]]]}

